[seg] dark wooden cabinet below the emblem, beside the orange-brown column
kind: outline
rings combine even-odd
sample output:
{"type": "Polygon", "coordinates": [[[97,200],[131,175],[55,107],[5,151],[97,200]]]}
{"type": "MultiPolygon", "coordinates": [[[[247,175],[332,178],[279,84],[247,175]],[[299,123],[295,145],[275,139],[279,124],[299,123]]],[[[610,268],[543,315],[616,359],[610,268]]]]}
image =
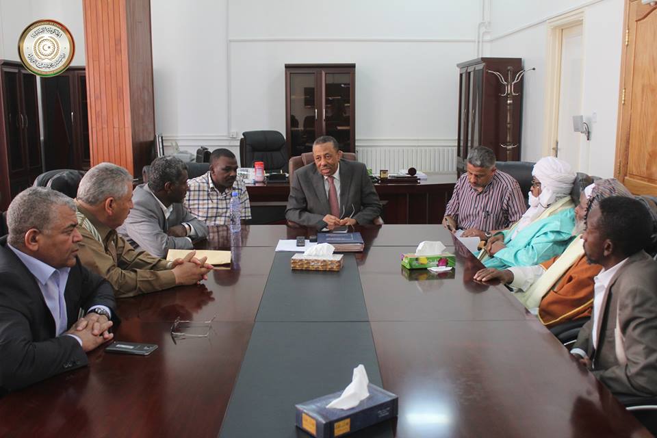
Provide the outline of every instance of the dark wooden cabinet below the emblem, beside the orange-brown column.
{"type": "Polygon", "coordinates": [[[42,77],[44,168],[88,170],[89,119],[84,67],[42,77]]]}

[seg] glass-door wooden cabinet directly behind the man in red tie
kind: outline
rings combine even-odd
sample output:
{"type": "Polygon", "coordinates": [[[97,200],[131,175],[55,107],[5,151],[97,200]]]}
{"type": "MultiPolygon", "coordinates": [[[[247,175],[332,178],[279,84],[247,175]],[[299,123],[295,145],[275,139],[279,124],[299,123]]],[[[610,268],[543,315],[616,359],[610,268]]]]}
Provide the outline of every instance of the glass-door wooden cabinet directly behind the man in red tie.
{"type": "Polygon", "coordinates": [[[356,64],[285,64],[285,138],[289,156],[311,152],[333,136],[355,152],[356,64]]]}

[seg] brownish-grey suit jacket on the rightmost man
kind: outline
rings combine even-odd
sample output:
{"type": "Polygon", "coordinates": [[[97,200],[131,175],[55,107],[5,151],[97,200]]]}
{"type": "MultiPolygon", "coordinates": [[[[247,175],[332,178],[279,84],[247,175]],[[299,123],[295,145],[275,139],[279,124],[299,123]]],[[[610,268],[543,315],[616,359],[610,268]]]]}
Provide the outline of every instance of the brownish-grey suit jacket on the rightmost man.
{"type": "Polygon", "coordinates": [[[644,251],[628,258],[610,280],[597,321],[584,324],[574,348],[593,361],[593,374],[614,394],[657,396],[657,262],[644,251]],[[617,345],[618,321],[622,345],[617,345]],[[617,348],[626,360],[619,360],[617,348]],[[624,363],[623,363],[624,362],[624,363]]]}

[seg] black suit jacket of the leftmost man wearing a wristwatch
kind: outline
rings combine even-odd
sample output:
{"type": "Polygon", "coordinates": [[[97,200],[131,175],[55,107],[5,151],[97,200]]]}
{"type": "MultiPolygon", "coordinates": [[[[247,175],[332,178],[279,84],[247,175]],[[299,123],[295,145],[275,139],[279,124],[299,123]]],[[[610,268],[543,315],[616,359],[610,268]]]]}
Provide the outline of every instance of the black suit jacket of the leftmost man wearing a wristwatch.
{"type": "MultiPolygon", "coordinates": [[[[87,365],[88,359],[74,337],[57,336],[50,313],[34,276],[0,238],[0,392],[18,389],[44,378],[87,365]]],[[[64,290],[67,326],[77,321],[79,309],[94,305],[114,310],[112,285],[84,268],[70,268],[64,290]]]]}

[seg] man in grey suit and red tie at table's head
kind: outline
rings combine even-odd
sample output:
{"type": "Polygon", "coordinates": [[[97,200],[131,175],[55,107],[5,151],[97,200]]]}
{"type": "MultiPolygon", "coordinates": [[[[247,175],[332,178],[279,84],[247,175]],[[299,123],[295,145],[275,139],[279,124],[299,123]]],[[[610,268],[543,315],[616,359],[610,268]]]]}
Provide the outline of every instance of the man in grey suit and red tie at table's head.
{"type": "Polygon", "coordinates": [[[294,172],[285,218],[305,227],[371,224],[383,207],[365,164],[342,159],[335,138],[313,143],[314,163],[294,172]]]}

